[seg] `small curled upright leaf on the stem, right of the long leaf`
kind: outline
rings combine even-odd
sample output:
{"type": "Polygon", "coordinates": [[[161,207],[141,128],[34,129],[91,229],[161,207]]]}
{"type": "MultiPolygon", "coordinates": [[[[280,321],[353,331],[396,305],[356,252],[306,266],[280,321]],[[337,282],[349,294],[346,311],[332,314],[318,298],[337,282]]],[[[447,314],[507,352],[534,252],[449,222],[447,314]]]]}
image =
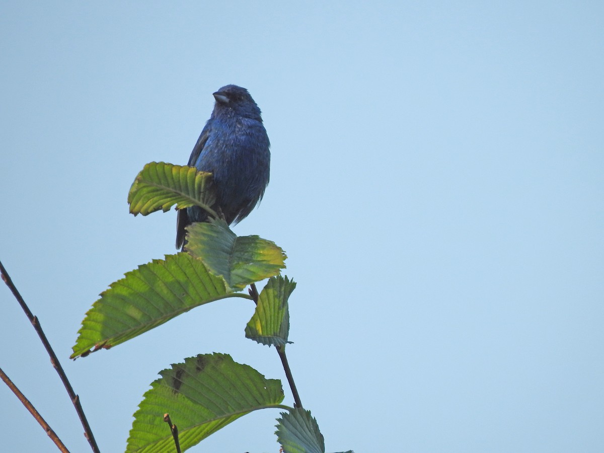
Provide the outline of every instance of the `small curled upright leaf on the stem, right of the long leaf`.
{"type": "Polygon", "coordinates": [[[288,343],[289,295],[296,284],[288,277],[271,277],[260,292],[254,315],[245,327],[245,336],[261,344],[288,343]]]}

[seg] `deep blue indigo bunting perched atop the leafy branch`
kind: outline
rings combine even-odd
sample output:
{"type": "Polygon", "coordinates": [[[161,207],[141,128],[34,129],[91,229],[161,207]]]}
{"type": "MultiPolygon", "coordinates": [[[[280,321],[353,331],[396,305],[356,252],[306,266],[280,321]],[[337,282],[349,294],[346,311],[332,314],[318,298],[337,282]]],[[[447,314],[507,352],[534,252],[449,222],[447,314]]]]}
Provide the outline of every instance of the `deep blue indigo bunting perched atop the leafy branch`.
{"type": "MultiPolygon", "coordinates": [[[[269,180],[270,143],[260,109],[248,90],[226,85],[191,152],[188,165],[213,174],[216,204],[226,223],[237,223],[259,204],[269,180]]],[[[208,214],[193,206],[178,211],[176,248],[184,246],[185,226],[204,222],[208,214]]]]}

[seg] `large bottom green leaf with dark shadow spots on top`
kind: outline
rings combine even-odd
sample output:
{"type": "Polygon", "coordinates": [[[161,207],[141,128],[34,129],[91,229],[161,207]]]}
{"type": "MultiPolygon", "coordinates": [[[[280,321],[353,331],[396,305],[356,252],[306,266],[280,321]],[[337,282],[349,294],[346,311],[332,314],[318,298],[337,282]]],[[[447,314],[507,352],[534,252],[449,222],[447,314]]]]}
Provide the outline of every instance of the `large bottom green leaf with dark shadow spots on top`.
{"type": "Polygon", "coordinates": [[[266,379],[225,354],[191,357],[159,374],[134,414],[127,453],[175,451],[165,413],[185,451],[251,411],[278,407],[284,397],[278,379],[266,379]]]}

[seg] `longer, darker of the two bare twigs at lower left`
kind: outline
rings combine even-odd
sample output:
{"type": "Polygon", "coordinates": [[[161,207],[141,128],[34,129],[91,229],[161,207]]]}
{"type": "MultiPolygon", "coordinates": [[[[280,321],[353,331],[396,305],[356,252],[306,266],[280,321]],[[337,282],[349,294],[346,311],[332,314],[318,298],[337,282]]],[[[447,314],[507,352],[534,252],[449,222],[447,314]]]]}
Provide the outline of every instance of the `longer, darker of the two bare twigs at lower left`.
{"type": "Polygon", "coordinates": [[[42,344],[44,345],[48,355],[50,356],[51,364],[53,364],[54,369],[57,370],[57,373],[59,373],[61,382],[63,382],[63,385],[65,385],[65,389],[67,390],[69,399],[71,399],[71,402],[73,403],[74,407],[76,408],[76,412],[77,412],[78,416],[80,417],[80,422],[82,422],[82,426],[84,427],[84,437],[86,437],[86,439],[88,440],[88,443],[90,444],[90,447],[92,448],[92,451],[94,453],[100,453],[100,450],[98,449],[98,446],[97,446],[97,442],[94,440],[94,435],[92,434],[92,429],[90,428],[90,425],[88,424],[88,420],[86,420],[86,415],[84,414],[82,405],[80,404],[80,397],[76,395],[73,388],[71,387],[71,384],[69,383],[69,379],[67,379],[67,375],[65,374],[65,371],[63,371],[63,367],[61,366],[59,359],[57,359],[57,356],[54,353],[53,348],[51,347],[50,343],[48,342],[48,339],[46,338],[46,335],[44,335],[42,326],[40,326],[40,322],[38,321],[36,316],[34,316],[33,313],[31,313],[31,310],[29,309],[29,307],[27,306],[27,304],[21,297],[21,294],[19,294],[18,289],[16,288],[16,286],[14,286],[13,280],[11,280],[10,276],[8,275],[8,272],[2,265],[2,262],[0,262],[0,274],[2,275],[2,280],[4,280],[4,283],[6,283],[8,288],[10,288],[10,291],[13,293],[14,297],[19,302],[19,305],[21,305],[21,308],[25,312],[25,315],[27,315],[27,318],[30,320],[31,324],[34,326],[34,329],[36,329],[36,332],[37,332],[38,336],[40,337],[42,344]]]}

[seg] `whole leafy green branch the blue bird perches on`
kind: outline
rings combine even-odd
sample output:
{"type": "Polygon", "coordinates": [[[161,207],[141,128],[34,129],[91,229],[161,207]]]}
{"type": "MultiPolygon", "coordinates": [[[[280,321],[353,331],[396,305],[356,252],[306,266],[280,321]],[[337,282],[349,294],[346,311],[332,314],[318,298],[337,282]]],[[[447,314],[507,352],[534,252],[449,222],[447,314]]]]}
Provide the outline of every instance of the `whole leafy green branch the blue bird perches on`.
{"type": "MultiPolygon", "coordinates": [[[[269,240],[236,236],[210,209],[214,201],[210,173],[164,162],[145,165],[128,194],[132,214],[146,216],[173,205],[179,209],[196,205],[214,218],[187,227],[185,252],[138,266],[109,285],[86,313],[72,358],[109,349],[194,307],[242,297],[257,303],[246,337],[277,347],[289,384],[295,388],[284,352],[290,342],[289,296],[296,286],[280,275],[286,255],[269,240]],[[255,286],[249,295],[239,292],[265,278],[269,280],[260,294],[255,286]]],[[[170,414],[178,427],[185,451],[251,411],[281,408],[289,410],[277,425],[284,452],[324,453],[323,436],[310,412],[280,404],[281,382],[266,379],[228,355],[198,355],[159,374],[161,379],[151,384],[134,414],[127,452],[174,451],[164,414],[170,414]]],[[[297,392],[293,393],[301,406],[297,392]]]]}

